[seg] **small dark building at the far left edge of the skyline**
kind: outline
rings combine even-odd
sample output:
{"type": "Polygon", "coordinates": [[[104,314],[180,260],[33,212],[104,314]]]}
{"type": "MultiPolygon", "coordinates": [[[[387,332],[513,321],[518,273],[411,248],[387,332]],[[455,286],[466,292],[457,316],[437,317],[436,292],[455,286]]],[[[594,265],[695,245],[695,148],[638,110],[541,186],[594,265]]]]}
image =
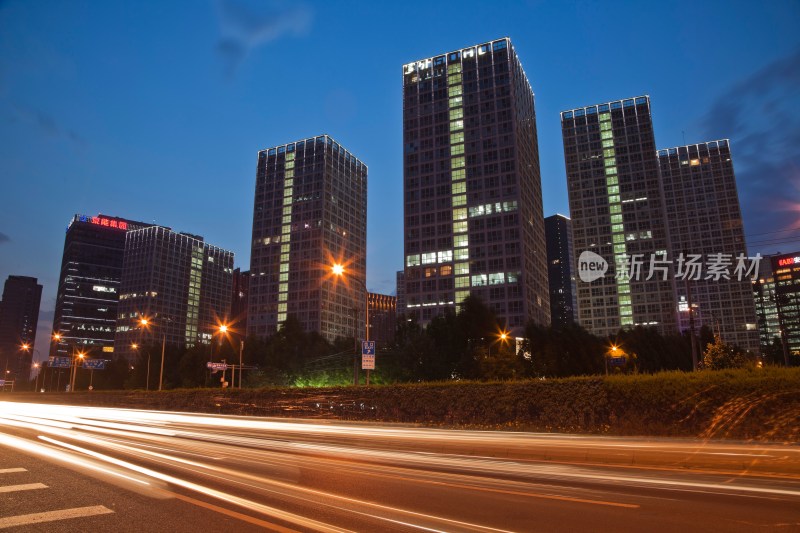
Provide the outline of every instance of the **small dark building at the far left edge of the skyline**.
{"type": "Polygon", "coordinates": [[[36,278],[8,276],[6,279],[0,302],[0,379],[28,380],[41,300],[42,286],[36,278]]]}

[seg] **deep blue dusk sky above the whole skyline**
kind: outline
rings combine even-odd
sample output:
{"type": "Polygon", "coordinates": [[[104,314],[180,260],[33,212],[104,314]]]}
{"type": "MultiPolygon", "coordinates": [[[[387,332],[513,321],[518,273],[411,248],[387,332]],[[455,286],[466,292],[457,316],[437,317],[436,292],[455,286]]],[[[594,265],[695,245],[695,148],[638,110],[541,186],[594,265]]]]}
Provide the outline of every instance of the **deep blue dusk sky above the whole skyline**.
{"type": "Polygon", "coordinates": [[[328,133],[369,166],[368,285],[402,268],[401,66],[511,37],[545,214],[559,111],[649,94],[656,142],[730,138],[751,252],[800,249],[800,3],[0,0],[0,282],[44,285],[74,213],[205,236],[249,266],[256,152],[328,133]],[[794,242],[787,242],[794,240],[794,242]]]}

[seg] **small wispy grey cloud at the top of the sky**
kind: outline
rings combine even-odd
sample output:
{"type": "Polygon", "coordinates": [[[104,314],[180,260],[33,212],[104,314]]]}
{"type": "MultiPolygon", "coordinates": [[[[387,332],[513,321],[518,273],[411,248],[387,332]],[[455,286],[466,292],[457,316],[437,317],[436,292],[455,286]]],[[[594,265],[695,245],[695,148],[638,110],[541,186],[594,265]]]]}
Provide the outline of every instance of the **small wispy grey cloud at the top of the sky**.
{"type": "Polygon", "coordinates": [[[217,51],[229,76],[254,48],[284,35],[302,35],[311,27],[313,11],[302,2],[219,0],[220,40],[217,51]]]}

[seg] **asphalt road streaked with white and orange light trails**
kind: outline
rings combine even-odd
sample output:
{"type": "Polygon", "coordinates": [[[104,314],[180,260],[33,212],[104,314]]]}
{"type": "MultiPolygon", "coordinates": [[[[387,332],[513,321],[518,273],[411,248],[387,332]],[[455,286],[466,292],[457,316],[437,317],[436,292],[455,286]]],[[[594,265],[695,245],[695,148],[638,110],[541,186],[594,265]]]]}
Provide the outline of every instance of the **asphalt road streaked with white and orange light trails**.
{"type": "Polygon", "coordinates": [[[800,531],[800,447],[0,402],[0,529],[800,531]]]}

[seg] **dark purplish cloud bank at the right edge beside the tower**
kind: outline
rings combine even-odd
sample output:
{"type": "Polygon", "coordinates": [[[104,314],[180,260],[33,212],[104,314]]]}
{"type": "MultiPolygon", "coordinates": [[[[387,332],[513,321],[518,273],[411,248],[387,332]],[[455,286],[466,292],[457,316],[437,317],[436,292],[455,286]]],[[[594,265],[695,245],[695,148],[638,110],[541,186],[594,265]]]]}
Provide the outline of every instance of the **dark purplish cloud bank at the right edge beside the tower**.
{"type": "MultiPolygon", "coordinates": [[[[799,105],[800,49],[742,78],[704,117],[708,140],[731,139],[750,235],[800,227],[799,105]]],[[[770,246],[751,252],[780,248],[770,246]]]]}

